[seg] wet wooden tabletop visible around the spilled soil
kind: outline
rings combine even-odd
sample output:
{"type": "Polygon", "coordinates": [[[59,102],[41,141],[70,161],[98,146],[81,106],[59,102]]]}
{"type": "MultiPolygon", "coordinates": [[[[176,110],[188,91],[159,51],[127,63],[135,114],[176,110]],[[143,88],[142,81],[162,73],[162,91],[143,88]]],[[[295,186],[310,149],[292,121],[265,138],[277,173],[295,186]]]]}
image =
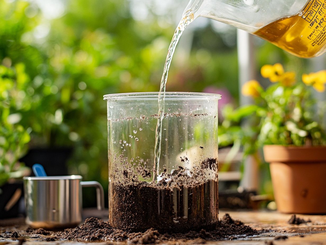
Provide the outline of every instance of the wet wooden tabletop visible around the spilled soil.
{"type": "MultiPolygon", "coordinates": [[[[301,225],[289,225],[287,221],[290,219],[290,214],[281,214],[275,211],[225,211],[220,210],[220,217],[226,212],[230,213],[233,219],[239,219],[246,225],[250,225],[257,230],[271,230],[271,232],[262,233],[258,236],[240,238],[235,240],[222,241],[208,241],[206,244],[227,244],[227,245],[291,245],[291,244],[308,244],[308,245],[326,245],[326,215],[297,215],[300,218],[310,219],[311,223],[301,225]],[[288,239],[275,240],[277,236],[288,236],[288,239]]],[[[106,212],[97,215],[105,220],[106,212]]],[[[93,216],[92,212],[87,212],[86,216],[93,216]]],[[[22,224],[23,219],[0,220],[1,230],[10,228],[15,229],[22,224]]],[[[27,227],[27,226],[26,226],[27,227]]],[[[126,244],[127,242],[96,242],[96,244],[126,244]]],[[[4,244],[18,244],[17,239],[0,238],[0,245],[4,244]]],[[[31,244],[88,244],[89,242],[75,242],[75,241],[40,241],[31,239],[24,242],[26,245],[31,244]]],[[[179,242],[165,242],[162,244],[181,245],[179,242]]]]}

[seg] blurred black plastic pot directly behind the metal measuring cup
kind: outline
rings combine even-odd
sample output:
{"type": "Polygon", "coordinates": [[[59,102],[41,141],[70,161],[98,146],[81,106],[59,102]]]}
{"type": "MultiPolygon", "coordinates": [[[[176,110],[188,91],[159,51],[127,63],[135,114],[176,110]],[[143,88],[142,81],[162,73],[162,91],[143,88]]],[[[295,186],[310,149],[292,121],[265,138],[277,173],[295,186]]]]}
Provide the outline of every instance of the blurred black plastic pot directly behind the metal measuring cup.
{"type": "Polygon", "coordinates": [[[35,163],[41,164],[48,175],[67,175],[67,160],[71,153],[72,148],[33,148],[20,161],[30,168],[35,163]]]}

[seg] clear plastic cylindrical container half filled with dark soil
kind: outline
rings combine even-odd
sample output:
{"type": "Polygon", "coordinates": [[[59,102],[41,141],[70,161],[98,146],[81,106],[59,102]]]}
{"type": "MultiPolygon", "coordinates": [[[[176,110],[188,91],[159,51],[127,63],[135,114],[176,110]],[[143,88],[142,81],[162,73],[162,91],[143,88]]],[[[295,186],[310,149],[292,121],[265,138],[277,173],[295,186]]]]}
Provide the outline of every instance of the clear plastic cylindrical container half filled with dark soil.
{"type": "Polygon", "coordinates": [[[220,98],[208,93],[165,93],[161,154],[155,166],[158,92],[104,96],[113,227],[170,232],[216,225],[220,98]]]}

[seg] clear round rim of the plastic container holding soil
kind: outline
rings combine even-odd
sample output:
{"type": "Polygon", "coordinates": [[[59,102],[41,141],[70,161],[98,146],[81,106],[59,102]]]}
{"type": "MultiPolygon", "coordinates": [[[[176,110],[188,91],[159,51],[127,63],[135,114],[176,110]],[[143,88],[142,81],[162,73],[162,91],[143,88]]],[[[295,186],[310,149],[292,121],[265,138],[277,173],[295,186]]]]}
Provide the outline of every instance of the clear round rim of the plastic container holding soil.
{"type": "MultiPolygon", "coordinates": [[[[103,96],[104,100],[124,100],[124,99],[146,99],[157,100],[160,92],[137,92],[137,93],[120,93],[120,94],[106,94],[103,96]]],[[[213,93],[199,93],[199,92],[161,92],[165,95],[165,100],[176,98],[187,99],[221,99],[220,94],[213,93]]]]}

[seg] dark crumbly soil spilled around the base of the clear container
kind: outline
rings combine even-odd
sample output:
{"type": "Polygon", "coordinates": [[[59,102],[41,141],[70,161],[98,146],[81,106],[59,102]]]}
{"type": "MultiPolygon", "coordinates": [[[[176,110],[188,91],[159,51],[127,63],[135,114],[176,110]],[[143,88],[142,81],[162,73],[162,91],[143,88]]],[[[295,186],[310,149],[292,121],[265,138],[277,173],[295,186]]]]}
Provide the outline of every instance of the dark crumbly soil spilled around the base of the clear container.
{"type": "Polygon", "coordinates": [[[107,222],[96,218],[87,219],[86,222],[73,229],[66,229],[63,232],[54,234],[56,239],[80,240],[80,241],[124,241],[129,240],[134,244],[159,243],[163,241],[175,240],[193,240],[197,244],[205,243],[205,241],[221,240],[221,239],[237,239],[257,235],[259,232],[250,226],[244,225],[239,220],[233,220],[229,214],[226,214],[222,220],[218,222],[215,229],[197,230],[186,233],[164,233],[161,234],[157,230],[148,229],[145,232],[129,233],[122,230],[112,228],[107,222]]]}

